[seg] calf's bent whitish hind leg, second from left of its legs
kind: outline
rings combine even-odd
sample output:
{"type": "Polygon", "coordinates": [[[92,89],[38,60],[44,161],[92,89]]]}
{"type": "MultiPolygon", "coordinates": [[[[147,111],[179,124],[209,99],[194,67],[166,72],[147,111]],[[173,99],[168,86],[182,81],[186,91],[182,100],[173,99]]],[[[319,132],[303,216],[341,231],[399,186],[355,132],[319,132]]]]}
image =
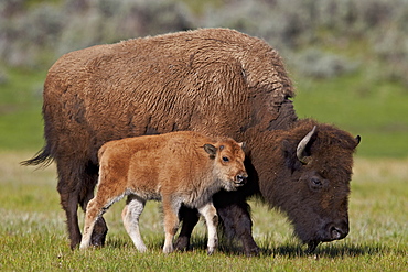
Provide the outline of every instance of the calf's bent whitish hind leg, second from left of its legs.
{"type": "Polygon", "coordinates": [[[121,213],[125,229],[133,241],[135,247],[140,252],[144,252],[147,250],[139,230],[139,217],[144,209],[144,199],[135,195],[129,196],[121,213]]]}

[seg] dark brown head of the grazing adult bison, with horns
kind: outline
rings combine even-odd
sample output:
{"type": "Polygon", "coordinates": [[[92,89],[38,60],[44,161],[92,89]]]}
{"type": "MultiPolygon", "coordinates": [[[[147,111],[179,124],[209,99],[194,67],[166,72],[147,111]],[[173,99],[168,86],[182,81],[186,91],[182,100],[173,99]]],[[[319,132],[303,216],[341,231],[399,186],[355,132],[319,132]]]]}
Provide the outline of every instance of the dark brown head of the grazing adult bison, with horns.
{"type": "Polygon", "coordinates": [[[320,242],[345,238],[353,152],[359,137],[305,122],[290,130],[281,143],[286,173],[278,181],[281,192],[273,196],[276,206],[288,214],[309,251],[320,242]]]}

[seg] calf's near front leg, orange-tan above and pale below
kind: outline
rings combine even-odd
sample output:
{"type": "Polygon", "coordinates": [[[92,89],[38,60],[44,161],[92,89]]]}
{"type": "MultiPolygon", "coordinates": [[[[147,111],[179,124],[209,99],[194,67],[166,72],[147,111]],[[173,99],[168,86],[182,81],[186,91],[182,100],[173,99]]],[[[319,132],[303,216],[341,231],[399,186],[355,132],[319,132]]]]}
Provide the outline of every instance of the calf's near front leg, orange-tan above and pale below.
{"type": "Polygon", "coordinates": [[[173,238],[179,227],[179,209],[181,206],[180,202],[175,202],[170,196],[163,196],[163,214],[164,214],[164,253],[173,252],[173,238]]]}

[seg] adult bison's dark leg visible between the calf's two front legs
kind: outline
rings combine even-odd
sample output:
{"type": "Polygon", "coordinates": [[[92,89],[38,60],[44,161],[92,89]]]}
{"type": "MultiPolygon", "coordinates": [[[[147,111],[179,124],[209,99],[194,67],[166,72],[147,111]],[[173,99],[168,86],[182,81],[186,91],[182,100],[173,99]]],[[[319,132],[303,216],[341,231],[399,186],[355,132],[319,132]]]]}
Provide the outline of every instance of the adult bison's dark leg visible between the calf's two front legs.
{"type": "Polygon", "coordinates": [[[198,222],[198,210],[182,206],[179,210],[179,218],[182,221],[182,228],[174,247],[176,250],[184,251],[189,249],[191,233],[198,222]]]}

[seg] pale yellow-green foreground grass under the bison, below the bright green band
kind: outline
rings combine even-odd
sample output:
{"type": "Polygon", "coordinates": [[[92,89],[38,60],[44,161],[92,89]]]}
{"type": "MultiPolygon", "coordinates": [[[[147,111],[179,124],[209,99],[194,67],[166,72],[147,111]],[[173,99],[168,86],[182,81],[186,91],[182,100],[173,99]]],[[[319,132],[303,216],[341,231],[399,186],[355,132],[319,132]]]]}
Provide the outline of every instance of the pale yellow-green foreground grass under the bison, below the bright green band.
{"type": "Polygon", "coordinates": [[[20,166],[18,163],[29,155],[0,153],[1,271],[406,271],[408,268],[407,160],[356,160],[350,202],[351,232],[344,240],[319,246],[313,254],[304,253],[282,215],[253,200],[254,237],[261,254],[246,258],[239,253],[239,243],[232,247],[225,241],[214,255],[206,255],[202,222],[193,233],[193,251],[164,255],[161,213],[153,202],[148,203],[140,219],[149,252],[138,253],[127,236],[120,218],[124,202],[115,204],[105,216],[109,227],[105,248],[72,251],[55,189],[55,168],[33,172],[20,166]]]}

